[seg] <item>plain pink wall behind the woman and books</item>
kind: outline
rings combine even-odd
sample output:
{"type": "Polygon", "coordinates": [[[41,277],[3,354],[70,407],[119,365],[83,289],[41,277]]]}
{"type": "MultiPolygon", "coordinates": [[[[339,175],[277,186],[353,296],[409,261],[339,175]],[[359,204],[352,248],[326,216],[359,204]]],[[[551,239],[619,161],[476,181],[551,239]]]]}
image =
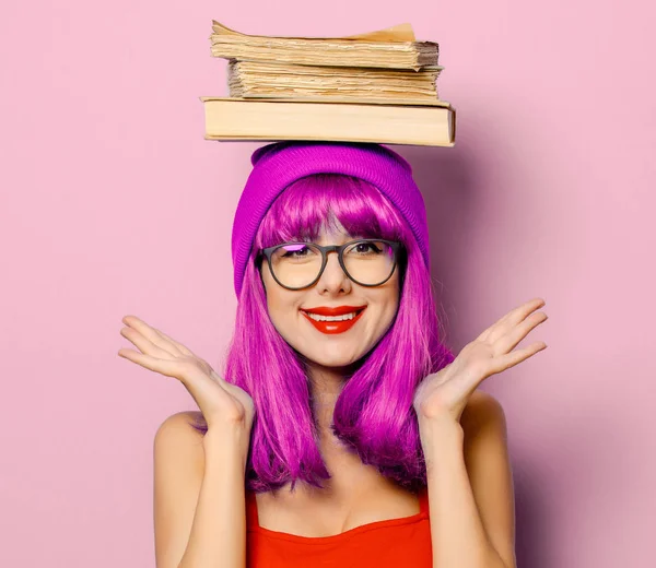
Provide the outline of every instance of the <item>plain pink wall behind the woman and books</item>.
{"type": "MultiPolygon", "coordinates": [[[[216,19],[271,35],[411,22],[455,149],[396,146],[459,351],[541,296],[546,352],[490,378],[525,568],[653,566],[654,10],[555,0],[3,3],[0,540],[16,567],[154,566],[152,439],[195,403],[116,355],[134,313],[219,364],[255,143],[203,140],[216,19]]],[[[525,343],[523,343],[524,345],[525,343]]]]}

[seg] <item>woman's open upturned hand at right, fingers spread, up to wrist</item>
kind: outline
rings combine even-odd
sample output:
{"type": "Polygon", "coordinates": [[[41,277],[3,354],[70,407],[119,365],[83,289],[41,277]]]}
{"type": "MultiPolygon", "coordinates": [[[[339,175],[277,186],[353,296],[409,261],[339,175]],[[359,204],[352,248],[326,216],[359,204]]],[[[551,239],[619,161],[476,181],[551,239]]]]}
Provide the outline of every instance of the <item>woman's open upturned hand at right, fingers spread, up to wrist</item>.
{"type": "Polygon", "coordinates": [[[542,306],[542,298],[534,298],[513,309],[465,345],[450,364],[423,379],[412,402],[418,418],[423,422],[447,418],[459,423],[469,397],[484,379],[546,348],[547,344],[538,341],[513,351],[534,328],[547,320],[547,313],[536,311],[542,306]]]}

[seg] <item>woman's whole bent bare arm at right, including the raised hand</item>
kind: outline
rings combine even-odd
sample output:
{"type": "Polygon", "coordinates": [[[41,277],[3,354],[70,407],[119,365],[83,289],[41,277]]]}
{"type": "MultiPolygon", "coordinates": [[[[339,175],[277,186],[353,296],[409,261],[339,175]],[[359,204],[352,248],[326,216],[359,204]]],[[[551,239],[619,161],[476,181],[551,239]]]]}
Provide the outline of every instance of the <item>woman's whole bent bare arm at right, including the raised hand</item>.
{"type": "Polygon", "coordinates": [[[515,350],[547,321],[547,313],[536,311],[542,306],[542,298],[534,298],[506,313],[414,393],[434,568],[515,568],[505,415],[496,399],[477,389],[488,377],[547,348],[538,341],[515,350]]]}

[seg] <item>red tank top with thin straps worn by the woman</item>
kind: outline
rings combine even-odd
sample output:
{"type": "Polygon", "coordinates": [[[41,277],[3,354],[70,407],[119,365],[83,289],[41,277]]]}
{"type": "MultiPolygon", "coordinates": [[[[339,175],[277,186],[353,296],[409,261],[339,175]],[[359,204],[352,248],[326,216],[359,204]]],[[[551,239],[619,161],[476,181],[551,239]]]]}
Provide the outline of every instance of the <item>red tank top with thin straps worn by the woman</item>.
{"type": "Polygon", "coordinates": [[[431,568],[429,496],[419,493],[420,512],[376,521],[332,536],[298,536],[259,525],[257,501],[246,490],[247,568],[431,568]]]}

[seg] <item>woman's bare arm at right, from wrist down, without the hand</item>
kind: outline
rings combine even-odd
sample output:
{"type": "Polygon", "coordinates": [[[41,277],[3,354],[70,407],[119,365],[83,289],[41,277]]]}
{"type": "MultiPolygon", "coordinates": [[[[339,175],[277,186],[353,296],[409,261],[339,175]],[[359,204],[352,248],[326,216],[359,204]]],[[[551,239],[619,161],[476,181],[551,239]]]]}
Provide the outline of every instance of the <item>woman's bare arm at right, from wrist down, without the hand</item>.
{"type": "Polygon", "coordinates": [[[450,419],[420,422],[434,568],[515,568],[514,496],[505,418],[477,391],[450,419]]]}

